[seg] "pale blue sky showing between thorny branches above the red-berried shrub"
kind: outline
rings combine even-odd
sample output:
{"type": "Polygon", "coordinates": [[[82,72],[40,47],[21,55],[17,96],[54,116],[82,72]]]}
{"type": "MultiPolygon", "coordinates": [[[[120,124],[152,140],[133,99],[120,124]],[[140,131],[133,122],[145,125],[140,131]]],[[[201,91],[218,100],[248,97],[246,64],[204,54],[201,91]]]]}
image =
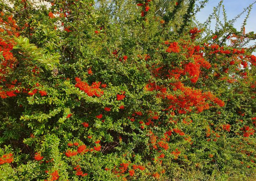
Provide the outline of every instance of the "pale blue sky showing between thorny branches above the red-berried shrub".
{"type": "MultiPolygon", "coordinates": [[[[204,22],[207,19],[207,17],[213,12],[213,7],[216,7],[219,1],[220,0],[209,0],[206,7],[197,14],[197,19],[199,20],[199,22],[204,22]]],[[[233,19],[237,14],[242,12],[245,7],[247,7],[254,1],[255,0],[224,0],[223,4],[225,5],[228,19],[233,19]]],[[[245,16],[246,13],[241,18],[237,19],[237,22],[235,23],[236,28],[241,27],[245,16]]],[[[212,28],[214,27],[215,24],[212,25],[212,28]]],[[[251,10],[251,15],[247,21],[245,30],[246,33],[248,33],[249,31],[256,32],[256,3],[251,10]]]]}

